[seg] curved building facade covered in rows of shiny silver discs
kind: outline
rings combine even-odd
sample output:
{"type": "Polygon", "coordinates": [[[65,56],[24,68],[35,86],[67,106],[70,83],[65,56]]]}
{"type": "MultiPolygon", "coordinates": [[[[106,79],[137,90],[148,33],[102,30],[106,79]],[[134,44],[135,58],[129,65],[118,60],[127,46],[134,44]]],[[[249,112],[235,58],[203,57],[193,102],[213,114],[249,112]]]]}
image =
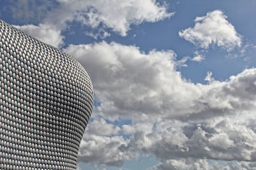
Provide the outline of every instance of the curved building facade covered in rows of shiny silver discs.
{"type": "Polygon", "coordinates": [[[92,107],[76,60],[0,20],[0,169],[76,169],[92,107]]]}

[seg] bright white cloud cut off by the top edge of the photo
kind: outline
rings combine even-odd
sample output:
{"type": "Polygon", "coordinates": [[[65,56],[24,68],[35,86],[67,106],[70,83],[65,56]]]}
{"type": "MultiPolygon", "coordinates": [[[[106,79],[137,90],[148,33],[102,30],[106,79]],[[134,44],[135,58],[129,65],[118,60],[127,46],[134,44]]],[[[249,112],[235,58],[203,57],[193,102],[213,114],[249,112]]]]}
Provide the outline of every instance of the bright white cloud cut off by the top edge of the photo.
{"type": "Polygon", "coordinates": [[[73,15],[76,20],[92,27],[102,23],[122,36],[127,34],[131,24],[157,22],[173,15],[168,13],[166,6],[155,0],[122,0],[118,3],[115,0],[108,3],[100,0],[59,2],[60,10],[65,9],[66,15],[73,15]]]}

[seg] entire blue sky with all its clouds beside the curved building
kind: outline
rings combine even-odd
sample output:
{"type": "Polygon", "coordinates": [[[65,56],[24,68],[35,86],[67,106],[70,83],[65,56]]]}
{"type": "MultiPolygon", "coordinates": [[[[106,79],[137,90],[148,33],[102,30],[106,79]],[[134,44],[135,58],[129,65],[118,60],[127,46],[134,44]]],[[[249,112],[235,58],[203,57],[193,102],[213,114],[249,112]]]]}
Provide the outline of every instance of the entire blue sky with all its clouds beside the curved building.
{"type": "Polygon", "coordinates": [[[255,169],[256,1],[3,0],[85,67],[81,169],[255,169]]]}

